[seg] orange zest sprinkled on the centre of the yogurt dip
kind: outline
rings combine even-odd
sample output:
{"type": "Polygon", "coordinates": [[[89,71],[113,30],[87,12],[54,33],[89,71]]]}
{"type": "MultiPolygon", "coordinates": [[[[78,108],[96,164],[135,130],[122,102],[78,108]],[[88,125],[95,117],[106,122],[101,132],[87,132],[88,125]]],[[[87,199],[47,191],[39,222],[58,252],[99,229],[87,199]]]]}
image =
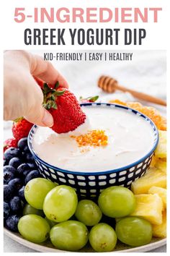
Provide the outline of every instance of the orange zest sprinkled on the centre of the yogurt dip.
{"type": "Polygon", "coordinates": [[[108,137],[105,135],[104,130],[91,130],[84,135],[73,136],[71,138],[75,139],[79,147],[91,146],[100,147],[106,146],[108,144],[108,137]]]}

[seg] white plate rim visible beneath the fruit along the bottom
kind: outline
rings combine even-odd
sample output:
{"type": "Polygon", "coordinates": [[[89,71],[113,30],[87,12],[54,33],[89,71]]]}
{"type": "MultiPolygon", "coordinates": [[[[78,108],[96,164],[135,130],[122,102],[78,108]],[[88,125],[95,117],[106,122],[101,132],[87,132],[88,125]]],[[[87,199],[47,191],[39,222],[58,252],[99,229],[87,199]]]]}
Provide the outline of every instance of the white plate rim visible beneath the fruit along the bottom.
{"type": "MultiPolygon", "coordinates": [[[[53,245],[48,241],[42,244],[34,244],[22,238],[18,233],[13,233],[7,229],[4,229],[4,234],[9,236],[14,241],[18,242],[19,244],[24,245],[25,247],[35,249],[37,252],[66,252],[61,251],[60,249],[56,249],[53,245]]],[[[163,246],[166,244],[166,239],[152,239],[150,244],[146,244],[140,247],[128,247],[125,244],[120,242],[117,243],[115,248],[115,252],[148,252],[151,249],[156,249],[158,247],[163,246]]],[[[79,252],[94,252],[91,247],[84,247],[83,249],[79,250],[79,252]]]]}

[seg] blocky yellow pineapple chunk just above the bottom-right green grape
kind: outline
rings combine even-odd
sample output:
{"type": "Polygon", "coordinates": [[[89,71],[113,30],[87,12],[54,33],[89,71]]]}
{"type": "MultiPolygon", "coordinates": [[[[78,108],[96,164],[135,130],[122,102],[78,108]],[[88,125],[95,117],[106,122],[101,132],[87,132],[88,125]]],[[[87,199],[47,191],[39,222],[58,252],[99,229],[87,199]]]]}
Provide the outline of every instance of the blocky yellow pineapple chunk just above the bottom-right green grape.
{"type": "Polygon", "coordinates": [[[136,207],[130,216],[144,218],[151,224],[162,223],[163,202],[158,195],[135,195],[136,207]]]}

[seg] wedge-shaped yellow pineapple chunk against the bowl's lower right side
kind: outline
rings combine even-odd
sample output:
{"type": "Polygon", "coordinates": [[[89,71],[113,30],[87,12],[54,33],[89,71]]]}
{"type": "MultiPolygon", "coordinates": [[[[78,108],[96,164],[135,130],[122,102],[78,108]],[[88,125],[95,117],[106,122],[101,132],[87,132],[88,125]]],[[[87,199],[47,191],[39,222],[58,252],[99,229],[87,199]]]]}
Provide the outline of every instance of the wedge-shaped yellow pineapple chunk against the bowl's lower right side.
{"type": "Polygon", "coordinates": [[[147,194],[151,187],[166,188],[166,174],[158,168],[148,168],[146,174],[132,183],[131,190],[134,194],[147,194]]]}

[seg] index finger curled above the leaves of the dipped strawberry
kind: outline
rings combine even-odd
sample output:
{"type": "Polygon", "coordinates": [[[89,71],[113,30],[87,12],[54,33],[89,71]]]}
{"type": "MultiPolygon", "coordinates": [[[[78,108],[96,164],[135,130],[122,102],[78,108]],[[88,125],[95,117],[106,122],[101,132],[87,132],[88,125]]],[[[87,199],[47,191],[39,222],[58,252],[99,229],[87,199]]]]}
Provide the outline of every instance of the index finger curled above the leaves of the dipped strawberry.
{"type": "Polygon", "coordinates": [[[50,62],[44,61],[40,56],[30,54],[30,72],[50,85],[55,85],[55,82],[58,81],[62,87],[68,88],[65,78],[50,62]]]}

